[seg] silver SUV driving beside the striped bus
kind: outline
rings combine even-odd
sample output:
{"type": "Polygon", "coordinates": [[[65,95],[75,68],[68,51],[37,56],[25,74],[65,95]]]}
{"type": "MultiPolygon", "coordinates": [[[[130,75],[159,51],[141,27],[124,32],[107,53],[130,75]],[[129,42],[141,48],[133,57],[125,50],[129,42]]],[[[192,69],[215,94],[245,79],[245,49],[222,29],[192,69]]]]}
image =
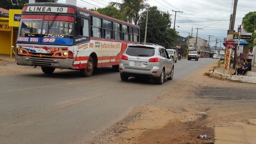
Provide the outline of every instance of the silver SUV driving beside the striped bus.
{"type": "Polygon", "coordinates": [[[122,81],[129,77],[154,78],[163,84],[165,78],[173,78],[173,60],[163,46],[153,43],[134,43],[121,56],[119,71],[122,81]]]}

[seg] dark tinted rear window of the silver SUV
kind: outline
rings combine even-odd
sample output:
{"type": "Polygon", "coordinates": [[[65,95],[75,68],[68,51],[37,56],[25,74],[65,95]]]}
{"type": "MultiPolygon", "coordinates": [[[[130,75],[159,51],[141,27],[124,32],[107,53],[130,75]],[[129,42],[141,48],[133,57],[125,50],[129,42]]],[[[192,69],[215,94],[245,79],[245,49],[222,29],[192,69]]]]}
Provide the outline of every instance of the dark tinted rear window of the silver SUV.
{"type": "Polygon", "coordinates": [[[125,53],[134,57],[151,57],[155,54],[155,49],[151,47],[128,46],[125,53]]]}

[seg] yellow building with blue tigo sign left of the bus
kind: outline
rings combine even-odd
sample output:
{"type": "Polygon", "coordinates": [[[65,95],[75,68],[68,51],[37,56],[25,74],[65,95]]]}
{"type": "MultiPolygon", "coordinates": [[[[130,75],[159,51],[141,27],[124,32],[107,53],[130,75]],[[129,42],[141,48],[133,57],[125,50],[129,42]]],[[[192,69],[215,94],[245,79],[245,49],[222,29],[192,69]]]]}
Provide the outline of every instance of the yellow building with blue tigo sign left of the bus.
{"type": "Polygon", "coordinates": [[[20,18],[20,9],[0,8],[0,54],[12,57],[12,46],[16,47],[20,18]]]}

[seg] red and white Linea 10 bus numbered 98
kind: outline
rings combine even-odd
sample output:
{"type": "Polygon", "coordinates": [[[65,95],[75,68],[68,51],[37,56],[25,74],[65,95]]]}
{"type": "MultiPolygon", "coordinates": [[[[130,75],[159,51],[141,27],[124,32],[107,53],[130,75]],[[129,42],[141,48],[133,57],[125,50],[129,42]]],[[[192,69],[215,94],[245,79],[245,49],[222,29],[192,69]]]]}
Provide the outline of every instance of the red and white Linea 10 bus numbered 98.
{"type": "Polygon", "coordinates": [[[58,69],[118,70],[122,53],[140,42],[140,27],[64,3],[29,3],[22,9],[17,37],[17,64],[58,69]]]}

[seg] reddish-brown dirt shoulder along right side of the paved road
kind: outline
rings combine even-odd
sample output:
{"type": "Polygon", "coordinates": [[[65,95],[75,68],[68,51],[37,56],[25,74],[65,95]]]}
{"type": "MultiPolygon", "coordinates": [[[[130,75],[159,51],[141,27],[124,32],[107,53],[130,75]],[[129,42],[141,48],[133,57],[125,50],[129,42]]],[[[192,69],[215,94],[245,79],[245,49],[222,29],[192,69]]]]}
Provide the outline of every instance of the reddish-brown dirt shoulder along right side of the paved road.
{"type": "Polygon", "coordinates": [[[213,144],[214,127],[256,118],[256,84],[209,78],[212,63],[177,82],[90,144],[213,144]],[[207,134],[207,138],[200,135],[207,134]]]}

